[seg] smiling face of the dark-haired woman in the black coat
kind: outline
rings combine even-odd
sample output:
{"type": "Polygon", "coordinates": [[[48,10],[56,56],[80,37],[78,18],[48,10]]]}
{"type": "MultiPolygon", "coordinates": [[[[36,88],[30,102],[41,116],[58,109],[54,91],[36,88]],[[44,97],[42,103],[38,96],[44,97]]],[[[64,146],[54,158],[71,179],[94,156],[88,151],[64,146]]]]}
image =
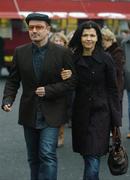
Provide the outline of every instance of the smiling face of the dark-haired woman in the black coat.
{"type": "Polygon", "coordinates": [[[98,40],[96,30],[94,28],[84,29],[81,36],[83,49],[94,50],[98,40]]]}

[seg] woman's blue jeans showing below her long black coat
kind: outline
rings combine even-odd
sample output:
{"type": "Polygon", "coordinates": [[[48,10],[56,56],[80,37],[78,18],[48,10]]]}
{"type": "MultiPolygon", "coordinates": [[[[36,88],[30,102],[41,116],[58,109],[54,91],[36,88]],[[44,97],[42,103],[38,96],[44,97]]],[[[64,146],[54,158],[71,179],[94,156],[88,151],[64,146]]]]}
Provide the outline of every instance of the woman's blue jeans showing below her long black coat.
{"type": "Polygon", "coordinates": [[[85,155],[83,180],[99,180],[100,157],[85,155]]]}

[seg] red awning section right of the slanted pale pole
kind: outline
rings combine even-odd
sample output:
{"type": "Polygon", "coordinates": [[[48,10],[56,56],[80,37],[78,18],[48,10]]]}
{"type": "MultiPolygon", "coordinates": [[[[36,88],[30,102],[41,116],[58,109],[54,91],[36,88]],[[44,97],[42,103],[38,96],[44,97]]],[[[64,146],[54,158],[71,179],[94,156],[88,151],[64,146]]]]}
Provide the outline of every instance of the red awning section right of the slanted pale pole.
{"type": "Polygon", "coordinates": [[[17,0],[17,2],[21,11],[130,13],[129,2],[95,2],[87,0],[17,0]]]}

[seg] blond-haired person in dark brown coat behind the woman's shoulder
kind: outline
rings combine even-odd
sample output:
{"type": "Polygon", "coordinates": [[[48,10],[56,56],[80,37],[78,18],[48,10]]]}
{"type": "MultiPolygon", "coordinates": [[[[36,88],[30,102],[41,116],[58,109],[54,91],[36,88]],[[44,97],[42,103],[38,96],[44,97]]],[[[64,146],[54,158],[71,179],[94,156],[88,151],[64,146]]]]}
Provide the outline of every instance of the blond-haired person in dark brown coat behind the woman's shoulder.
{"type": "Polygon", "coordinates": [[[120,98],[121,111],[122,111],[122,100],[124,90],[124,63],[125,57],[123,49],[118,45],[115,34],[107,27],[101,29],[102,43],[106,52],[112,56],[117,76],[117,88],[120,98]]]}

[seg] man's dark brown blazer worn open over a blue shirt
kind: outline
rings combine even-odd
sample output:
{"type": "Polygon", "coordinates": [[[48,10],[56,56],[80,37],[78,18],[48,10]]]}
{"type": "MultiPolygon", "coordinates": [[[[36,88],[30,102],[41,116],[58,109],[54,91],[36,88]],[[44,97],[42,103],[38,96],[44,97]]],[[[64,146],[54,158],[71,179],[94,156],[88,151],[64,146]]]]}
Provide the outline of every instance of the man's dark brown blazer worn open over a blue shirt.
{"type": "Polygon", "coordinates": [[[76,85],[76,76],[71,53],[68,49],[49,42],[43,62],[42,81],[38,82],[32,62],[32,44],[17,47],[13,57],[12,72],[6,82],[4,104],[13,104],[17,90],[22,84],[19,108],[19,124],[35,127],[36,103],[40,101],[42,113],[50,126],[58,127],[66,122],[67,93],[76,85]],[[73,75],[68,80],[61,79],[61,70],[71,69],[73,75]],[[45,96],[35,94],[37,87],[45,87],[45,96]]]}

